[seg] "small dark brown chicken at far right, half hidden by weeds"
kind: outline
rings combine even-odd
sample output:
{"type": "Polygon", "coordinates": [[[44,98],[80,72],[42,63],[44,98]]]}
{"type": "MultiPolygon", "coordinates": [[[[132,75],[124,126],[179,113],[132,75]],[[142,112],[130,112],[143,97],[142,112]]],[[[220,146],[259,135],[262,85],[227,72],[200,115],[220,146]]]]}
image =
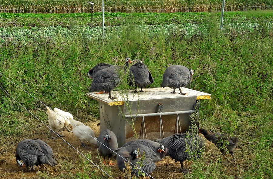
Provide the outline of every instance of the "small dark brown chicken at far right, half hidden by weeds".
{"type": "Polygon", "coordinates": [[[203,134],[207,140],[215,144],[223,155],[229,153],[233,157],[234,162],[236,161],[233,153],[233,150],[238,146],[239,143],[239,140],[236,137],[227,137],[227,134],[218,132],[211,133],[208,130],[202,128],[198,129],[198,131],[199,133],[203,134]]]}

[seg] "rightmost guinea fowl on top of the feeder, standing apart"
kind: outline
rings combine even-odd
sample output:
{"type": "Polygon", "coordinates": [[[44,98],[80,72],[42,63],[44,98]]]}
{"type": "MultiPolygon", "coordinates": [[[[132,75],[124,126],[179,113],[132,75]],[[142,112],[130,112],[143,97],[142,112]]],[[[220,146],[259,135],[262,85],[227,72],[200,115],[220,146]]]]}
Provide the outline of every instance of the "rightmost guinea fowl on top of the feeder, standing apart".
{"type": "Polygon", "coordinates": [[[192,76],[194,71],[192,69],[188,69],[182,65],[171,65],[169,66],[165,72],[163,73],[163,81],[161,83],[161,87],[170,87],[174,89],[179,88],[180,93],[186,95],[186,93],[182,93],[181,87],[185,87],[192,81],[192,76]]]}

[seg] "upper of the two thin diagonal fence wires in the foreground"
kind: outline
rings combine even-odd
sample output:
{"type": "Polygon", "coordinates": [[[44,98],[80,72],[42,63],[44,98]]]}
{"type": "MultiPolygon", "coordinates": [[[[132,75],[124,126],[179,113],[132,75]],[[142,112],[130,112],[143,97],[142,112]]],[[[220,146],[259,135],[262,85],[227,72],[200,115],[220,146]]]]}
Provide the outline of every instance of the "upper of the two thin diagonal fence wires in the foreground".
{"type": "MultiPolygon", "coordinates": [[[[21,88],[19,85],[17,85],[16,83],[14,83],[12,80],[10,80],[9,78],[7,78],[5,75],[3,75],[2,73],[0,73],[2,76],[4,76],[6,79],[8,79],[10,82],[12,82],[13,84],[15,84],[17,87],[19,87],[20,89],[22,89],[25,93],[28,93],[27,91],[25,91],[25,89],[21,88]]],[[[42,101],[40,101],[39,99],[37,99],[35,96],[33,96],[32,94],[28,93],[30,96],[32,96],[35,100],[39,101],[40,103],[42,103],[43,105],[45,105],[42,101]]],[[[47,106],[47,105],[45,105],[47,106]]],[[[53,111],[53,110],[52,110],[53,111]]],[[[55,111],[53,111],[55,112],[55,111]]],[[[56,113],[56,112],[55,112],[56,113]]],[[[58,114],[58,113],[56,113],[58,114]]],[[[63,119],[69,121],[71,124],[73,124],[75,127],[77,127],[79,130],[83,131],[84,133],[86,133],[86,131],[80,129],[78,126],[76,126],[74,123],[72,123],[70,120],[66,119],[65,117],[63,117],[62,115],[58,114],[59,116],[61,116],[63,119]]],[[[50,129],[50,128],[49,128],[50,129]]],[[[50,129],[51,130],[51,129],[50,129]]],[[[52,130],[53,131],[53,130],[52,130]]],[[[92,137],[94,140],[96,140],[97,142],[99,142],[100,144],[102,144],[103,146],[105,146],[106,148],[108,148],[110,151],[114,152],[116,155],[120,156],[121,158],[123,158],[124,160],[126,160],[127,162],[129,162],[127,159],[125,159],[124,157],[122,157],[121,155],[119,155],[118,153],[116,153],[114,150],[110,149],[109,147],[107,147],[106,145],[104,145],[103,143],[101,143],[99,140],[97,140],[96,138],[94,138],[93,136],[91,136],[89,133],[86,133],[87,135],[89,135],[90,137],[92,137]]],[[[58,135],[59,136],[59,135],[58,135]]],[[[154,177],[152,177],[151,175],[147,174],[146,172],[144,172],[141,168],[137,167],[136,165],[132,164],[134,167],[138,168],[140,171],[142,171],[143,173],[145,173],[147,176],[155,179],[154,177]]]]}

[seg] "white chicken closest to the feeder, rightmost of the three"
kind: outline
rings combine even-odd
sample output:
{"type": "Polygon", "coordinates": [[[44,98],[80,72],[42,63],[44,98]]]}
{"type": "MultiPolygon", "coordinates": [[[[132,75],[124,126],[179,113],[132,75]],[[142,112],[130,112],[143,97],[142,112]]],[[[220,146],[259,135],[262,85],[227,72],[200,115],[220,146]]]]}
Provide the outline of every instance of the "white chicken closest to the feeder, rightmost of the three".
{"type": "Polygon", "coordinates": [[[97,138],[95,136],[95,133],[90,127],[72,118],[69,118],[69,120],[71,122],[71,126],[73,127],[72,132],[74,136],[80,140],[84,148],[90,149],[90,147],[86,147],[86,145],[84,144],[85,141],[88,144],[97,144],[97,138]]]}

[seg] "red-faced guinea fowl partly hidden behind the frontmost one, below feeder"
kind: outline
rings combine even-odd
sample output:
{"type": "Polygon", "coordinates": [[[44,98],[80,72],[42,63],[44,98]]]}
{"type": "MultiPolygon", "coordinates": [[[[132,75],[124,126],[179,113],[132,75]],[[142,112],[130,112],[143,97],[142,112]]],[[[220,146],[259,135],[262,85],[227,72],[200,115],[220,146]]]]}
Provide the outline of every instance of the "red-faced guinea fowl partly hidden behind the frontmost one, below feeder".
{"type": "MultiPolygon", "coordinates": [[[[126,147],[128,145],[131,144],[142,144],[145,145],[147,147],[149,147],[150,149],[152,149],[158,157],[160,157],[161,159],[163,157],[165,157],[165,155],[167,154],[168,148],[164,147],[164,145],[159,144],[157,142],[154,142],[152,140],[149,139],[135,139],[135,140],[131,140],[129,142],[127,142],[126,144],[124,144],[122,147],[126,147]]],[[[118,148],[116,151],[120,150],[120,148],[118,148]]]]}

